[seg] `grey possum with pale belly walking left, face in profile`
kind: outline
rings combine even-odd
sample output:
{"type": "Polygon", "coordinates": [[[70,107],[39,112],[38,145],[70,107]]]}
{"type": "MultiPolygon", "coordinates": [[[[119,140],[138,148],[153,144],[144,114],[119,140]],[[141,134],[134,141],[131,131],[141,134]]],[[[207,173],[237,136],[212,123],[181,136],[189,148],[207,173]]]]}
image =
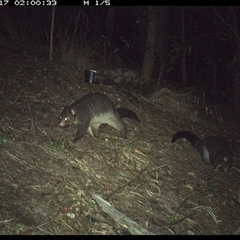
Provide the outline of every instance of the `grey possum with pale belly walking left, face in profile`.
{"type": "Polygon", "coordinates": [[[125,107],[116,109],[106,95],[96,92],[86,94],[69,107],[65,107],[60,115],[59,126],[77,125],[75,143],[86,133],[93,138],[98,137],[98,128],[102,124],[115,128],[120,132],[122,138],[126,138],[127,129],[122,120],[124,117],[140,123],[134,111],[125,107]]]}

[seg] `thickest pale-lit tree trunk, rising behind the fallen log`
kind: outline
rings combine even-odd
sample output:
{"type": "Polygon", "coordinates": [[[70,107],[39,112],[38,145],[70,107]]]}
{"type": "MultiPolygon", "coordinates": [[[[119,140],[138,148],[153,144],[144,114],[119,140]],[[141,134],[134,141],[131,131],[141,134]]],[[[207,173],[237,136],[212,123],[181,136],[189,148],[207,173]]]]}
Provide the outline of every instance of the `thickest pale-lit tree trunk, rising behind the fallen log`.
{"type": "Polygon", "coordinates": [[[142,84],[149,81],[152,76],[153,64],[155,60],[155,47],[156,47],[156,7],[147,7],[147,41],[144,54],[144,60],[141,72],[141,90],[142,84]]]}

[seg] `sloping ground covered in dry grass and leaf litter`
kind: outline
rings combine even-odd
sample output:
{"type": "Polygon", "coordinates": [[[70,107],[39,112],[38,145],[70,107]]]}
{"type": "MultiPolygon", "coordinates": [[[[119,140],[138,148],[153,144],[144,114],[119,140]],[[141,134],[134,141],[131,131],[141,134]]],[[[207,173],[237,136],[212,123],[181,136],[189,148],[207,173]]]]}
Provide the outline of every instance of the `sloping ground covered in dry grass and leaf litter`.
{"type": "Polygon", "coordinates": [[[185,92],[126,94],[21,52],[1,49],[0,61],[1,234],[129,234],[93,194],[156,234],[240,233],[240,124],[227,113],[218,124],[194,115],[185,92]],[[134,110],[141,124],[124,118],[127,139],[101,126],[99,139],[74,144],[76,127],[59,127],[59,115],[96,91],[134,110]],[[230,172],[214,172],[187,141],[171,144],[182,129],[224,137],[230,172]]]}

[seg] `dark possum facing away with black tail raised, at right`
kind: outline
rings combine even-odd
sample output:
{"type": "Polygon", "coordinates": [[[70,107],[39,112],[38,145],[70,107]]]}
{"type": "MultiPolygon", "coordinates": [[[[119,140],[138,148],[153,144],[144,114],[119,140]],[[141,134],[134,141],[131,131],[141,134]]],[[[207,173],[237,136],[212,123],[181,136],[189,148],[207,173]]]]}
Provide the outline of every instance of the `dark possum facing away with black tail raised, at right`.
{"type": "Polygon", "coordinates": [[[213,165],[215,171],[223,168],[225,172],[229,172],[233,155],[227,142],[216,136],[200,139],[190,131],[178,131],[173,135],[172,143],[181,138],[187,139],[199,151],[202,161],[213,165]]]}

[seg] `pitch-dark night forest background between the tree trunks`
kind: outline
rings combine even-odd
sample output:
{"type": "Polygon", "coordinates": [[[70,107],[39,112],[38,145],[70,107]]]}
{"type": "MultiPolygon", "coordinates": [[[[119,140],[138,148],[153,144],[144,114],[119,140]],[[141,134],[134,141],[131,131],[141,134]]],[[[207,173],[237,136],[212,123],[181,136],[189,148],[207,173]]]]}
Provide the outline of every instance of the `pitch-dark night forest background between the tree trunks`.
{"type": "MultiPolygon", "coordinates": [[[[112,61],[111,67],[126,67],[141,74],[145,53],[147,35],[147,6],[57,6],[54,25],[53,60],[57,61],[57,52],[64,51],[63,42],[72,42],[80,47],[96,45],[95,53],[111,60],[115,56],[121,59],[121,64],[112,61]],[[106,33],[106,17],[109,8],[114,8],[114,17],[111,21],[111,37],[106,33]],[[137,11],[141,8],[141,14],[137,11]],[[107,42],[107,47],[106,47],[107,42]],[[102,45],[101,45],[102,44],[102,45]],[[105,44],[105,45],[104,45],[105,44]],[[103,46],[104,45],[104,46],[103,46]],[[57,50],[58,51],[57,51],[57,50]],[[107,49],[107,54],[103,54],[107,49]]],[[[236,41],[224,22],[211,11],[210,6],[185,7],[184,36],[186,46],[187,86],[182,86],[181,62],[181,6],[166,6],[168,8],[168,23],[166,38],[168,39],[164,51],[166,62],[170,63],[164,74],[164,87],[181,88],[197,87],[204,91],[209,98],[217,96],[217,101],[233,102],[233,78],[236,69],[236,41]],[[174,57],[172,52],[175,53],[174,57]],[[177,54],[176,54],[177,53],[177,54]]],[[[231,19],[231,10],[239,16],[239,7],[214,7],[221,18],[232,27],[238,28],[231,19]]],[[[0,46],[22,49],[33,54],[41,53],[47,48],[50,41],[50,27],[52,7],[13,7],[0,9],[0,46]]],[[[161,12],[158,13],[160,15],[161,12]]],[[[237,23],[239,19],[236,18],[237,23]]],[[[157,21],[160,21],[159,18],[157,21]]],[[[157,32],[162,29],[157,28],[157,32]]],[[[158,41],[156,43],[156,58],[147,88],[154,91],[155,81],[159,77],[161,52],[158,41]]],[[[43,55],[44,57],[44,55],[43,55]]],[[[48,53],[46,52],[46,59],[48,53]]],[[[103,67],[108,66],[105,62],[103,67]]],[[[163,87],[163,85],[161,85],[163,87]]],[[[136,88],[138,88],[136,86],[136,88]]],[[[144,91],[143,91],[144,92],[144,91]]]]}

